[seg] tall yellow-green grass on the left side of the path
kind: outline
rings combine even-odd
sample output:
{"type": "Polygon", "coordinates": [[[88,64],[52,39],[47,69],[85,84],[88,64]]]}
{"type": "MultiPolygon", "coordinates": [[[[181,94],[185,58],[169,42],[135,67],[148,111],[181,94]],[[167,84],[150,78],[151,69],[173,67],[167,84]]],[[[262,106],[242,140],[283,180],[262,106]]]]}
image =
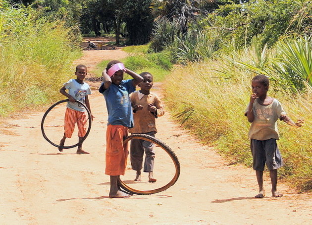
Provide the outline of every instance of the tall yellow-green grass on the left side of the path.
{"type": "Polygon", "coordinates": [[[59,98],[72,74],[69,29],[33,20],[25,8],[0,5],[0,115],[59,98]]]}

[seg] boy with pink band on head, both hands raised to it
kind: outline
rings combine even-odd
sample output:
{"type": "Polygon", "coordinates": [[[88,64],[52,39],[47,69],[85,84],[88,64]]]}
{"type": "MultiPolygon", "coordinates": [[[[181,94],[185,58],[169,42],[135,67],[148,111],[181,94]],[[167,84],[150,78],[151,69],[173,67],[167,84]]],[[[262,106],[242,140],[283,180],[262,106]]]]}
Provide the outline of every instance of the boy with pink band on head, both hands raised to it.
{"type": "Polygon", "coordinates": [[[123,140],[128,136],[128,128],[133,127],[133,115],[129,94],[135,91],[135,86],[143,78],[124,67],[118,60],[108,62],[103,71],[103,83],[100,93],[104,95],[108,112],[106,130],[105,174],[110,176],[110,198],[124,198],[130,195],[118,189],[118,178],[124,175],[128,147],[123,145],[123,140]],[[133,77],[132,80],[123,80],[126,72],[133,77]]]}

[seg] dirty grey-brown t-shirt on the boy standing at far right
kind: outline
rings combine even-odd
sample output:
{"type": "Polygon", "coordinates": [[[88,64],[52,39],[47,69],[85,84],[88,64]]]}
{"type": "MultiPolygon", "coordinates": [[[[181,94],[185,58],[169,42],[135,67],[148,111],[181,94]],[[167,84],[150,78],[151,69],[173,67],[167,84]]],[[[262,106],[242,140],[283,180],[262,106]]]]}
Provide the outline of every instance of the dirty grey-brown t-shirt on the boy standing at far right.
{"type": "MultiPolygon", "coordinates": [[[[249,104],[246,108],[248,112],[249,104]]],[[[279,139],[277,120],[286,115],[281,104],[274,99],[269,105],[260,105],[256,100],[253,105],[254,121],[249,129],[248,137],[256,140],[279,139]]]]}

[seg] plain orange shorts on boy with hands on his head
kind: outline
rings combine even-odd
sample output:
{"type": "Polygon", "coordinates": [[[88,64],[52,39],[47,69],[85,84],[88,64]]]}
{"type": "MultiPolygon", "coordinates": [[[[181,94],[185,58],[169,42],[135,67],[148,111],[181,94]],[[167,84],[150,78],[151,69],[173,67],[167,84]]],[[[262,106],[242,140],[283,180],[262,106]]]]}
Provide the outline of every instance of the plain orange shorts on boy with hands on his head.
{"type": "Polygon", "coordinates": [[[127,166],[128,143],[123,140],[128,136],[128,127],[108,125],[106,130],[106,167],[105,174],[110,176],[124,175],[127,166]]]}

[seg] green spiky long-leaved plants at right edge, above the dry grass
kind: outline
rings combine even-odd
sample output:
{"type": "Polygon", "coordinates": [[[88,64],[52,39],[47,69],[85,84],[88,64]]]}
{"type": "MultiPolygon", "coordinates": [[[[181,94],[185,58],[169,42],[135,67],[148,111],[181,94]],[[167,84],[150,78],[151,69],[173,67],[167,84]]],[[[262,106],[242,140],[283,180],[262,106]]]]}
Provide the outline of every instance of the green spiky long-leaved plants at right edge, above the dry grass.
{"type": "Polygon", "coordinates": [[[247,60],[241,59],[237,54],[239,51],[233,48],[228,59],[251,72],[270,77],[279,85],[278,88],[301,92],[306,90],[307,85],[312,86],[311,37],[280,39],[271,49],[267,49],[266,45],[261,48],[256,40],[245,52],[249,49],[253,51],[253,55],[247,60]]]}

